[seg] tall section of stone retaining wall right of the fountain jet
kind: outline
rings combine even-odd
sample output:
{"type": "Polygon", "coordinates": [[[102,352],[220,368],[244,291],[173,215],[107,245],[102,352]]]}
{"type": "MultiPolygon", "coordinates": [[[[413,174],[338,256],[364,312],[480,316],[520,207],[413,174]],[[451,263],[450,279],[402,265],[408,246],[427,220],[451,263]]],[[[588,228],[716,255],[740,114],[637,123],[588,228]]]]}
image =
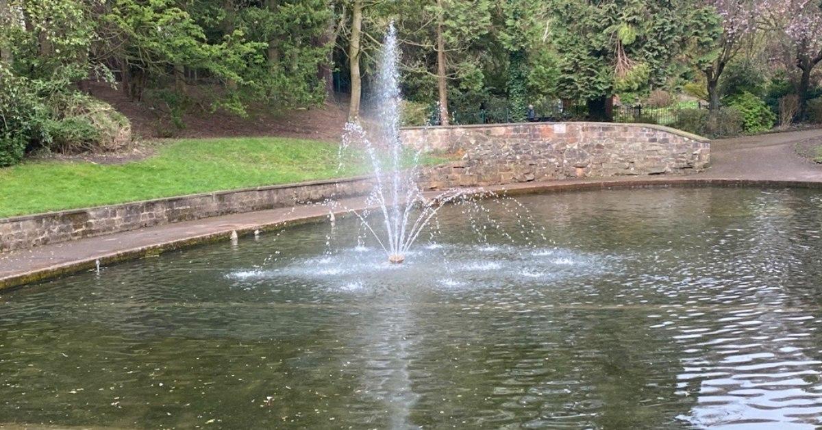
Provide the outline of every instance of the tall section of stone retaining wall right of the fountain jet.
{"type": "Polygon", "coordinates": [[[518,123],[407,127],[405,145],[462,154],[423,176],[429,188],[603,178],[705,169],[710,143],[669,127],[620,123],[518,123]]]}

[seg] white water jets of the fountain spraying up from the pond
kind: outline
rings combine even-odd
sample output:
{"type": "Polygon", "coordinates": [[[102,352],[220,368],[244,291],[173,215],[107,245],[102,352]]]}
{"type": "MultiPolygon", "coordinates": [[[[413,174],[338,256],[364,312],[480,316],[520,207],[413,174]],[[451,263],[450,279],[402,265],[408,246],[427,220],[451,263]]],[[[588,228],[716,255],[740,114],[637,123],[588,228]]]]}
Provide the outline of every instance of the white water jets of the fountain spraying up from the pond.
{"type": "Polygon", "coordinates": [[[347,123],[339,152],[342,155],[352,145],[364,147],[367,151],[375,177],[368,206],[379,207],[381,225],[372,225],[357,210],[349,211],[358,216],[386,252],[388,261],[394,264],[405,261],[405,253],[443,205],[465,195],[464,192],[448,191],[427,197],[415,181],[418,177],[419,152],[413,156],[412,166],[403,169],[405,150],[399,138],[399,102],[402,98],[399,94],[398,62],[396,30],[391,23],[376,81],[379,118],[374,132],[376,141],[372,141],[360,124],[347,123]]]}

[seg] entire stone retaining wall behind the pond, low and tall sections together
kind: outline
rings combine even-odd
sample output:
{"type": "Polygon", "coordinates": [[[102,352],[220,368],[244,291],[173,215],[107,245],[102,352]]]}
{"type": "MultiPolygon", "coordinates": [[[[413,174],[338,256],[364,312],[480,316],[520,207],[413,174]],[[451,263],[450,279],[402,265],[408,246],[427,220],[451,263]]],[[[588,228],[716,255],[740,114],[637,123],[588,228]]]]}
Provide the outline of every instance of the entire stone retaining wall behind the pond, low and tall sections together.
{"type": "MultiPolygon", "coordinates": [[[[424,169],[428,189],[653,173],[689,173],[709,162],[709,141],[667,127],[612,123],[522,123],[409,127],[406,145],[463,154],[424,169]]],[[[372,178],[210,192],[0,220],[0,252],[300,202],[366,194],[372,178]]]]}

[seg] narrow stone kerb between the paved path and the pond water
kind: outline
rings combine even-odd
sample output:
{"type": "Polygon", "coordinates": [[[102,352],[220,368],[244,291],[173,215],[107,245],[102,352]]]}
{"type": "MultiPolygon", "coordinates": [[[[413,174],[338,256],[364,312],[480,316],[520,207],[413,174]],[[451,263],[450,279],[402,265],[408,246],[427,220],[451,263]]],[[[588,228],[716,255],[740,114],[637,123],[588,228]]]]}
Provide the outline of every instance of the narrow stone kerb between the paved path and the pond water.
{"type": "MultiPolygon", "coordinates": [[[[795,187],[822,189],[822,182],[815,181],[793,181],[793,180],[769,180],[769,179],[736,179],[736,178],[664,178],[664,179],[640,179],[640,180],[599,180],[573,183],[529,183],[517,186],[497,186],[486,188],[472,188],[467,192],[478,197],[500,197],[500,196],[520,196],[528,194],[547,194],[551,192],[577,192],[586,190],[608,190],[608,189],[643,189],[643,188],[665,188],[665,187],[795,187]]],[[[348,212],[348,209],[333,210],[337,215],[348,212]]],[[[282,228],[287,225],[305,224],[316,220],[324,219],[328,214],[323,215],[294,215],[293,218],[278,220],[270,223],[261,223],[238,229],[225,229],[213,233],[201,234],[187,238],[174,239],[155,243],[144,247],[134,247],[118,252],[101,254],[99,256],[78,259],[68,263],[45,267],[38,270],[30,270],[0,278],[0,291],[12,289],[43,280],[48,280],[61,275],[69,275],[82,270],[95,268],[99,261],[101,266],[110,265],[120,261],[136,260],[142,257],[156,257],[163,252],[192,247],[195,245],[216,242],[229,238],[233,231],[238,235],[247,235],[255,230],[270,230],[282,228]]]]}

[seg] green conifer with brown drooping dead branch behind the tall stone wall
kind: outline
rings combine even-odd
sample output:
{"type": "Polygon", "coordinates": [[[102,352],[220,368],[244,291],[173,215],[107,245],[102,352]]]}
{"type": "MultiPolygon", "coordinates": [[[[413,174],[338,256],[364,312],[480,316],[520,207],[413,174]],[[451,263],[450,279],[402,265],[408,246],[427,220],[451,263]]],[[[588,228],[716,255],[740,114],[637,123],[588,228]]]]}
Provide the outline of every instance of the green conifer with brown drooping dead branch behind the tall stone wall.
{"type": "Polygon", "coordinates": [[[594,118],[607,117],[615,92],[647,92],[676,71],[686,42],[683,2],[554,0],[551,10],[558,91],[587,101],[594,118]]]}

